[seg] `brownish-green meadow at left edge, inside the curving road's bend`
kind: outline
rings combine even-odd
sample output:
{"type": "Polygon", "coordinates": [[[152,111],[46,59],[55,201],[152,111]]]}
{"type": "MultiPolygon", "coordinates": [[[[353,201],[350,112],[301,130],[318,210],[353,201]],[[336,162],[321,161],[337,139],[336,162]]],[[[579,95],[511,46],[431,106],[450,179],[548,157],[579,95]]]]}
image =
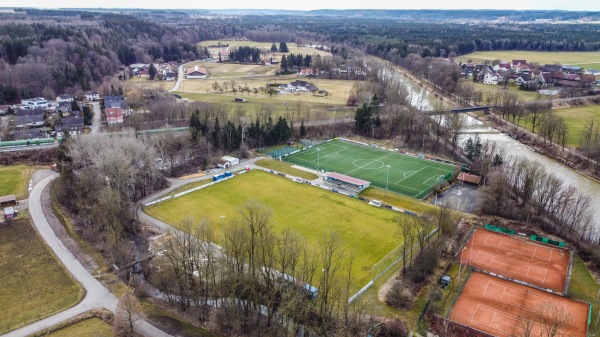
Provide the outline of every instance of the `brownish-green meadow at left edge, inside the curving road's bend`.
{"type": "Polygon", "coordinates": [[[0,224],[0,334],[67,309],[82,295],[29,213],[0,224]]]}

